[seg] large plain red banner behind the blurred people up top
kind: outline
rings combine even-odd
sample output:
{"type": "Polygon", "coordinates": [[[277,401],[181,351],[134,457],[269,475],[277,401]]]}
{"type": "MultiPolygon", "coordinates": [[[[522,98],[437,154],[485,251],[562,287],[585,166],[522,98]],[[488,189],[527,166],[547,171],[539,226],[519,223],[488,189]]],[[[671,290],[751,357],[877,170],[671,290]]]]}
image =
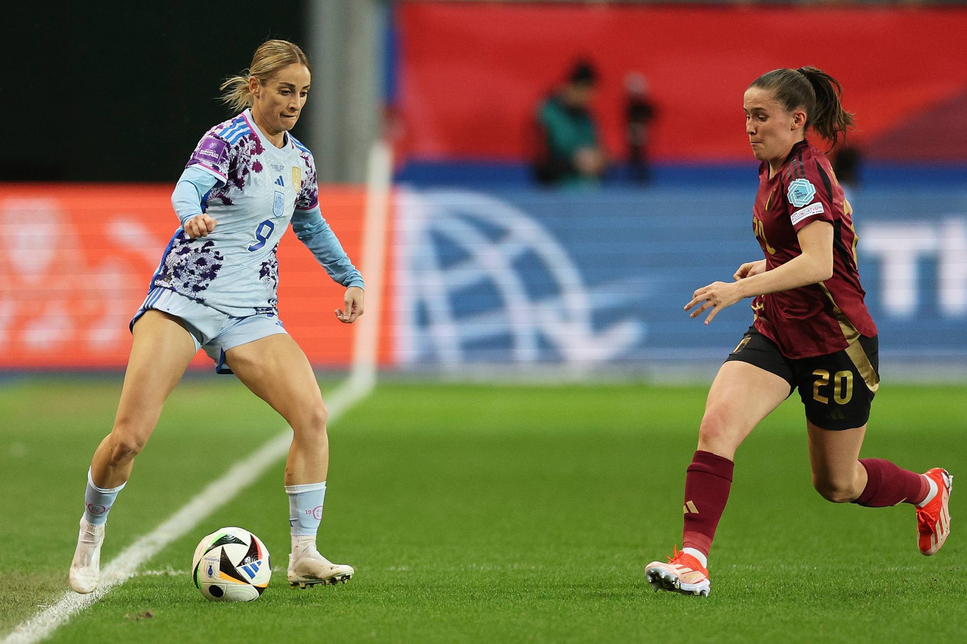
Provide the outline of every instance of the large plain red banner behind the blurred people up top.
{"type": "Polygon", "coordinates": [[[656,159],[742,161],[748,84],[814,65],[843,84],[868,157],[967,161],[963,9],[593,4],[398,5],[406,152],[527,159],[536,105],[581,57],[601,73],[594,112],[615,156],[630,72],[658,106],[656,159]]]}

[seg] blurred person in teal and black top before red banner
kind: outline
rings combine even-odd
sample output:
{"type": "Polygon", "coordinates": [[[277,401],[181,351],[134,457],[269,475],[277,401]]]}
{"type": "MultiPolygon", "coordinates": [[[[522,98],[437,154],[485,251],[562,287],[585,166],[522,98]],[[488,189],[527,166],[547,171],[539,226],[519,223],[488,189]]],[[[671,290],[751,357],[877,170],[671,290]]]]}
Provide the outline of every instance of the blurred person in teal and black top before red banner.
{"type": "Polygon", "coordinates": [[[538,108],[538,143],[534,163],[538,182],[558,186],[593,186],[606,162],[598,127],[588,110],[598,82],[591,63],[574,63],[567,80],[538,108]]]}

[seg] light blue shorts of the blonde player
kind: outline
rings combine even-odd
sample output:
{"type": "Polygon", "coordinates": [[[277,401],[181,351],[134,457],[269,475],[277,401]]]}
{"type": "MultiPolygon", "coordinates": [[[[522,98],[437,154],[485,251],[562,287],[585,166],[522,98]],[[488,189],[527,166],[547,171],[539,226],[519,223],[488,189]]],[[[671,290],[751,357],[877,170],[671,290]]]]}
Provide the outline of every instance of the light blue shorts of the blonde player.
{"type": "Polygon", "coordinates": [[[133,330],[148,309],[155,309],[179,318],[194,341],[194,350],[204,349],[215,360],[215,373],[231,374],[225,364],[225,351],[260,340],[277,333],[287,333],[275,313],[258,313],[245,318],[233,318],[170,289],[154,287],[148,292],[141,308],[134,314],[129,328],[133,330]]]}

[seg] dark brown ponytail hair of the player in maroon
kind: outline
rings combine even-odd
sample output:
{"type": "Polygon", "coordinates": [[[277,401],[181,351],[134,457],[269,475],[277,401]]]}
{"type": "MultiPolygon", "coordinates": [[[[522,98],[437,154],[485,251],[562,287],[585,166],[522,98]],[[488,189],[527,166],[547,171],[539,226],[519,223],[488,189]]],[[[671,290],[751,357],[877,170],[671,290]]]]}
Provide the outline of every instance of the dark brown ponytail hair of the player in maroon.
{"type": "Polygon", "coordinates": [[[823,70],[809,66],[772,70],[753,80],[749,87],[771,90],[789,112],[797,107],[806,110],[806,127],[828,140],[831,151],[840,140],[846,140],[846,131],[853,127],[853,114],[844,110],[839,101],[842,85],[823,70]]]}

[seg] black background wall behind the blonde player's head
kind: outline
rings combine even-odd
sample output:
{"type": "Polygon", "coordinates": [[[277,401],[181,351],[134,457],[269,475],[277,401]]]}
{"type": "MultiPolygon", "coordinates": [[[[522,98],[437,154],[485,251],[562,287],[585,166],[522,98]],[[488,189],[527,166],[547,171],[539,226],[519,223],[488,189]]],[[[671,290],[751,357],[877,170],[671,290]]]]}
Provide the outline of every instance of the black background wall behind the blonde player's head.
{"type": "Polygon", "coordinates": [[[24,4],[4,10],[0,182],[173,182],[232,115],[221,81],[306,40],[304,1],[24,4]]]}

